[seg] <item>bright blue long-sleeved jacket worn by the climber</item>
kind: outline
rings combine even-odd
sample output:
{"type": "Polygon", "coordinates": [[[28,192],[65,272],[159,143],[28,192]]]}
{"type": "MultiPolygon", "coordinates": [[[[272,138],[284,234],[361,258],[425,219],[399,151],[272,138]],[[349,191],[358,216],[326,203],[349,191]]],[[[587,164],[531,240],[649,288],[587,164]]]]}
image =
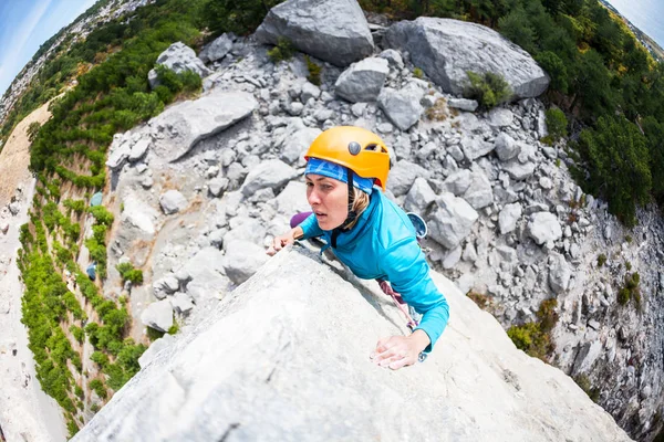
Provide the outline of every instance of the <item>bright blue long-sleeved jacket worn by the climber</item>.
{"type": "MultiPolygon", "coordinates": [[[[314,214],[300,227],[304,239],[323,236],[331,243],[332,231],[322,230],[314,214]]],[[[425,352],[430,351],[447,325],[449,306],[429,275],[406,213],[374,188],[369,207],[353,229],[339,234],[333,250],[357,277],[390,281],[394,291],[423,315],[417,328],[428,335],[432,344],[425,352]]]]}

